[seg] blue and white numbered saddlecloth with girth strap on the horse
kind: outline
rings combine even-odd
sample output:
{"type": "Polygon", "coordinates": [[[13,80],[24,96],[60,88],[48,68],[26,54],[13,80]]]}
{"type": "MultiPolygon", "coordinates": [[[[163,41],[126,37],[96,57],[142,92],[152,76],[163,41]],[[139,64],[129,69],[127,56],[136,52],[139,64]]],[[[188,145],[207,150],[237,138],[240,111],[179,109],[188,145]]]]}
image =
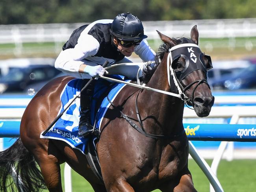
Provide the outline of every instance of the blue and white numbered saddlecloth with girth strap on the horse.
{"type": "MultiPolygon", "coordinates": [[[[115,76],[113,78],[124,80],[123,76],[115,76]]],[[[58,115],[62,113],[65,106],[67,106],[80,93],[81,83],[82,79],[72,79],[67,83],[60,96],[61,108],[58,115]]],[[[94,125],[95,129],[99,129],[101,121],[110,105],[106,96],[113,101],[115,96],[119,93],[119,90],[124,86],[125,84],[123,83],[113,83],[104,79],[98,79],[96,81],[91,101],[91,124],[94,125]]],[[[98,142],[98,138],[94,136],[86,138],[77,137],[80,115],[79,111],[80,100],[76,99],[46,133],[43,134],[44,131],[41,133],[40,138],[62,140],[72,148],[80,150],[86,156],[95,175],[103,183],[98,155],[96,152],[96,143],[98,142]]]]}

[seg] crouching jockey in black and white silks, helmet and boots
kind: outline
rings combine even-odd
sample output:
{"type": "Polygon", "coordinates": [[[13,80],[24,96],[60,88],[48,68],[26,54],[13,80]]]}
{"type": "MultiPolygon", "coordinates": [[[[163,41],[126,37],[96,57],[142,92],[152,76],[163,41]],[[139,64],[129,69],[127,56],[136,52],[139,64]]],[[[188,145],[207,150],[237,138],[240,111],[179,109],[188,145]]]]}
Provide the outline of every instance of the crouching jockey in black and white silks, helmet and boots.
{"type": "MultiPolygon", "coordinates": [[[[155,52],[145,40],[141,21],[131,13],[121,13],[114,20],[97,20],[73,31],[56,59],[55,67],[70,76],[84,79],[108,74],[103,63],[130,63],[126,57],[133,52],[144,61],[153,61],[155,52]]],[[[81,88],[82,88],[81,87],[81,88]]],[[[80,122],[78,137],[93,133],[89,109],[93,85],[80,95],[80,122]]],[[[98,134],[98,133],[96,133],[98,134]]]]}

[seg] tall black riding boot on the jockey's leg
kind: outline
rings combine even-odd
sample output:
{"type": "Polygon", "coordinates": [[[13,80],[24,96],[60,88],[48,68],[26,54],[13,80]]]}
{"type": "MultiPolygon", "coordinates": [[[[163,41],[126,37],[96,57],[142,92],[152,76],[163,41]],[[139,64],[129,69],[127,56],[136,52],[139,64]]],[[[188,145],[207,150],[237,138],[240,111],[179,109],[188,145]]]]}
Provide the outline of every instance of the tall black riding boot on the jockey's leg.
{"type": "MultiPolygon", "coordinates": [[[[84,81],[83,85],[85,85],[87,81],[84,81]]],[[[83,86],[82,86],[83,87],[83,86]]],[[[92,133],[96,136],[99,135],[98,129],[93,129],[93,126],[90,123],[90,107],[91,107],[91,97],[93,95],[94,83],[90,84],[87,87],[87,90],[84,90],[80,94],[80,120],[78,127],[78,137],[86,137],[91,135],[92,133]]]]}

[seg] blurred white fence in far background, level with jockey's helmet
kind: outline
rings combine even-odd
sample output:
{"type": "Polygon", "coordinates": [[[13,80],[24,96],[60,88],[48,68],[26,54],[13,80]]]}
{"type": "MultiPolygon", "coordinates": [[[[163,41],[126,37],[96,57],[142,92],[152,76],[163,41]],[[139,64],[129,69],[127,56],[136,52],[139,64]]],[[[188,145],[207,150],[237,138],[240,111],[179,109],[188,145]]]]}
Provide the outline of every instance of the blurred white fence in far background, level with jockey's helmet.
{"type": "MultiPolygon", "coordinates": [[[[59,53],[61,45],[69,39],[72,31],[83,24],[86,23],[0,25],[0,44],[15,44],[14,52],[19,54],[22,49],[25,49],[22,46],[23,43],[55,42],[55,52],[59,53]]],[[[189,37],[190,30],[194,25],[198,26],[202,38],[229,38],[229,40],[221,43],[206,43],[204,46],[208,50],[212,50],[213,47],[226,47],[228,45],[231,48],[243,46],[250,51],[256,46],[256,41],[240,42],[234,40],[235,37],[256,37],[256,18],[143,22],[148,39],[154,39],[158,44],[160,39],[156,30],[169,37],[189,37]]]]}

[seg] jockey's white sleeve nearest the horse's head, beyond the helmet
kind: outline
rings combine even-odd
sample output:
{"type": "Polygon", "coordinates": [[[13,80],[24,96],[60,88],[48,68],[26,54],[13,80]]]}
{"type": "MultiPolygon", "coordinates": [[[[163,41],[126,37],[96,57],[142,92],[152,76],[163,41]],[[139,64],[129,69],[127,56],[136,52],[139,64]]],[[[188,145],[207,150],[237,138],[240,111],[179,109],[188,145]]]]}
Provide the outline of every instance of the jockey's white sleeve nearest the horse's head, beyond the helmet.
{"type": "Polygon", "coordinates": [[[135,47],[135,54],[139,55],[139,57],[144,61],[154,61],[156,53],[154,50],[150,48],[146,39],[143,39],[141,43],[135,47]]]}

